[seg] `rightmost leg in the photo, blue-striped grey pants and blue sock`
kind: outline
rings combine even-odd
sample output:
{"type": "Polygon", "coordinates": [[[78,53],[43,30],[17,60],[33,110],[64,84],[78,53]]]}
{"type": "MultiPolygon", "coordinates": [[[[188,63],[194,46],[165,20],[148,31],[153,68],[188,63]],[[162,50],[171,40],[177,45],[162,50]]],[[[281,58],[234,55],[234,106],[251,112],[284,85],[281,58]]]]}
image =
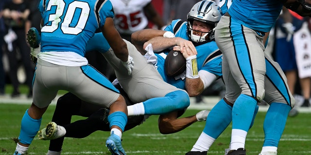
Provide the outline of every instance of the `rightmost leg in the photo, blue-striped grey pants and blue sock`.
{"type": "Polygon", "coordinates": [[[265,139],[259,155],[276,155],[288,113],[294,107],[295,101],[283,71],[268,56],[266,56],[266,68],[264,100],[270,104],[270,107],[263,123],[265,139]]]}

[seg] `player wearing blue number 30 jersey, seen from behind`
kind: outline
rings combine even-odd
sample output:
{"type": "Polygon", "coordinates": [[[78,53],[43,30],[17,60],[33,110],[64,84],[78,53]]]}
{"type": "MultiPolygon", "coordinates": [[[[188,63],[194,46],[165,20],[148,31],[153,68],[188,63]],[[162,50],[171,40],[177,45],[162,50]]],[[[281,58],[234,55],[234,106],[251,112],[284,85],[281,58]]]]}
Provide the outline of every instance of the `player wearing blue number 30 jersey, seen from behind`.
{"type": "Polygon", "coordinates": [[[127,123],[125,100],[85,58],[87,41],[100,29],[121,61],[122,71],[131,74],[134,62],[114,27],[111,2],[41,0],[38,9],[42,15],[42,39],[33,80],[33,103],[21,120],[14,155],[25,154],[28,150],[40,128],[42,115],[58,90],[72,92],[83,100],[109,108],[111,136],[106,145],[113,155],[125,155],[121,145],[127,123]]]}

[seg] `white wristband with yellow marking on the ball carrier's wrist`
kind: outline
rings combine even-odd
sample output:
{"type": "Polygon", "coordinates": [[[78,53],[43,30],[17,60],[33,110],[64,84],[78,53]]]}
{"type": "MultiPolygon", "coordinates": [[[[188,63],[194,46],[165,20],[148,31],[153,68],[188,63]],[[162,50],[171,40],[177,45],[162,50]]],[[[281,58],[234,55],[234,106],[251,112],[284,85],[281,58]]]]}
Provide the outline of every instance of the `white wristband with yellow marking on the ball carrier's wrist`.
{"type": "Polygon", "coordinates": [[[196,62],[196,55],[193,55],[186,59],[186,77],[187,78],[199,78],[198,63],[196,62]]]}

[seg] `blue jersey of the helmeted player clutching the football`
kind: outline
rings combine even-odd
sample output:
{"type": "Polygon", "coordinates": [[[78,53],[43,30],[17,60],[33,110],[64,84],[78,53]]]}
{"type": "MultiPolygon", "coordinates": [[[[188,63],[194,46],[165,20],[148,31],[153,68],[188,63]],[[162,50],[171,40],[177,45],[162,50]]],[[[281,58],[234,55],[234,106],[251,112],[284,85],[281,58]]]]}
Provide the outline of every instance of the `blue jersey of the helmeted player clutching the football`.
{"type": "MultiPolygon", "coordinates": [[[[176,37],[181,37],[183,39],[189,40],[187,35],[187,22],[183,22],[180,19],[173,20],[172,24],[165,28],[165,31],[171,31],[176,37]]],[[[197,54],[197,64],[198,70],[205,70],[207,72],[213,73],[216,76],[222,76],[222,53],[218,49],[215,41],[208,43],[194,43],[194,46],[198,52],[197,54]]],[[[169,50],[163,51],[164,54],[168,54],[169,50]]],[[[180,77],[168,77],[164,70],[165,59],[155,54],[158,57],[157,70],[160,73],[163,80],[177,88],[185,90],[185,75],[180,77]]]]}

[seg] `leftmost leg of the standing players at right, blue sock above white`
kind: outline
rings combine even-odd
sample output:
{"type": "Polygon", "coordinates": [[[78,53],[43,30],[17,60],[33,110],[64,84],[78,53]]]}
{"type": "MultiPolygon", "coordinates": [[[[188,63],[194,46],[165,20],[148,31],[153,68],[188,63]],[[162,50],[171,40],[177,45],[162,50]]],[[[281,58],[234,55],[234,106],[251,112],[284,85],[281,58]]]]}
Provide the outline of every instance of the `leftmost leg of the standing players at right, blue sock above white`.
{"type": "MultiPolygon", "coordinates": [[[[223,57],[223,60],[225,58],[223,57]]],[[[240,95],[241,89],[236,81],[232,78],[227,61],[222,63],[223,79],[225,83],[225,98],[220,100],[211,109],[207,116],[207,122],[200,137],[193,145],[190,152],[192,154],[200,155],[203,152],[207,152],[213,142],[219,137],[219,135],[225,130],[232,120],[232,106],[236,98],[240,95]],[[231,103],[230,103],[231,102],[231,103]]],[[[186,155],[187,155],[186,154],[186,155]]]]}

